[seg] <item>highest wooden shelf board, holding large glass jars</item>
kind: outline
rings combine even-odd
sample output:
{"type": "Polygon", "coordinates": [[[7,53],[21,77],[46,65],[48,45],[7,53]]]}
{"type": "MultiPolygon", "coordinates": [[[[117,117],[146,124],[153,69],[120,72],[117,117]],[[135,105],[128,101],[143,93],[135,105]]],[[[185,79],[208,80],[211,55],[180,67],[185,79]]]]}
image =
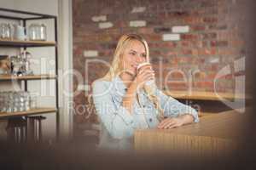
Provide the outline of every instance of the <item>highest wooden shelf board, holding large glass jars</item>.
{"type": "Polygon", "coordinates": [[[0,38],[0,47],[9,48],[26,48],[26,47],[55,47],[55,42],[45,41],[20,41],[20,40],[5,40],[0,38]]]}

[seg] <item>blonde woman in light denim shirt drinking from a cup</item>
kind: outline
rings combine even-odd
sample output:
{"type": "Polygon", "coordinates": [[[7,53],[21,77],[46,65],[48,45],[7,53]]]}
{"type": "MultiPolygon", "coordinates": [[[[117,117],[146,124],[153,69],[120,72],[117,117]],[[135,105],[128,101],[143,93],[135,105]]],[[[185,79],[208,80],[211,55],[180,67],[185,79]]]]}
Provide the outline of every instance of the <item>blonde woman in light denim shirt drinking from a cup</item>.
{"type": "Polygon", "coordinates": [[[132,147],[137,128],[173,128],[199,122],[195,109],[183,105],[156,88],[147,94],[145,82],[154,80],[148,44],[143,37],[120,37],[108,73],[93,83],[93,101],[102,122],[99,146],[112,149],[132,147]],[[165,117],[165,118],[163,118],[165,117]]]}

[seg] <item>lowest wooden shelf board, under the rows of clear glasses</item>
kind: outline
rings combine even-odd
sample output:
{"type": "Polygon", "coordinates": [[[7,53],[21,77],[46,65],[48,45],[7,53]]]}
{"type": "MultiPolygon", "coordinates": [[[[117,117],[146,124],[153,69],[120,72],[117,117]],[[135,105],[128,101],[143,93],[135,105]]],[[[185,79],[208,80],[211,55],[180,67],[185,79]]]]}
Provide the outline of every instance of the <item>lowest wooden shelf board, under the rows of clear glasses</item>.
{"type": "Polygon", "coordinates": [[[37,115],[42,113],[50,113],[50,112],[56,112],[57,110],[55,108],[36,108],[32,109],[30,111],[20,111],[20,112],[0,112],[0,118],[2,117],[9,117],[9,116],[29,116],[29,115],[37,115]]]}

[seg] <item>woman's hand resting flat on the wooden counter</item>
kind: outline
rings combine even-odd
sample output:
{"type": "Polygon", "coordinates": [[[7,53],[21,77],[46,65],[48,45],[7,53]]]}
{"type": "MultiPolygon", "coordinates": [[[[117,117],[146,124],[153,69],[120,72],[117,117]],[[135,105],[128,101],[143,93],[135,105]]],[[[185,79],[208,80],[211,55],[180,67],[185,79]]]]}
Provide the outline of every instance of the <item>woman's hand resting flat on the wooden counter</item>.
{"type": "Polygon", "coordinates": [[[168,117],[164,119],[160,124],[157,126],[158,128],[174,128],[174,127],[181,127],[184,124],[188,124],[193,122],[194,118],[193,116],[186,114],[183,116],[177,116],[177,117],[168,117]]]}

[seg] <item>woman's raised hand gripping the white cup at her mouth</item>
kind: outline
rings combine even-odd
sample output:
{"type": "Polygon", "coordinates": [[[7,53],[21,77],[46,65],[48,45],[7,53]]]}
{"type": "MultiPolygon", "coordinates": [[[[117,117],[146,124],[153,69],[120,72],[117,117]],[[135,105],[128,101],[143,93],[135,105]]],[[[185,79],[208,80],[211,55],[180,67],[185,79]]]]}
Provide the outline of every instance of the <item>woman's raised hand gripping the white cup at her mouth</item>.
{"type": "Polygon", "coordinates": [[[143,88],[144,83],[149,80],[154,80],[154,71],[151,65],[144,65],[137,72],[137,76],[134,79],[134,83],[137,84],[137,89],[143,88]]]}

